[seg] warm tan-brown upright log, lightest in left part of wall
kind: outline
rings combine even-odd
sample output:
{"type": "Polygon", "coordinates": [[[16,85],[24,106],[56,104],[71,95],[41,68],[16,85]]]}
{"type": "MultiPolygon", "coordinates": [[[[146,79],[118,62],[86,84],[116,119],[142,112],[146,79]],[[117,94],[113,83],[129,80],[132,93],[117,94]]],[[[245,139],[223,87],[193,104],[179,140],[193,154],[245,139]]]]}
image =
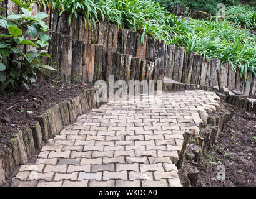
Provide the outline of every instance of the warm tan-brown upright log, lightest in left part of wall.
{"type": "Polygon", "coordinates": [[[83,83],[92,84],[94,77],[94,57],[95,57],[95,45],[84,45],[84,57],[83,57],[83,83]]]}

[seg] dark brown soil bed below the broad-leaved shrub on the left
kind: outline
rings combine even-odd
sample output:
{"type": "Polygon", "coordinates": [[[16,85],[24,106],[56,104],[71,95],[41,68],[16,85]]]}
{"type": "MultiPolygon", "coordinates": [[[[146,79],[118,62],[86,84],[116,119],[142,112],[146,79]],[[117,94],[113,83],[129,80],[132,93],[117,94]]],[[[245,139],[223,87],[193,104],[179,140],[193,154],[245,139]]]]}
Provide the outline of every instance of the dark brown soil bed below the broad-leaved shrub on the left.
{"type": "Polygon", "coordinates": [[[62,99],[73,98],[90,85],[45,80],[31,84],[29,89],[15,93],[0,94],[0,152],[14,132],[26,131],[36,124],[36,116],[49,109],[62,99]]]}

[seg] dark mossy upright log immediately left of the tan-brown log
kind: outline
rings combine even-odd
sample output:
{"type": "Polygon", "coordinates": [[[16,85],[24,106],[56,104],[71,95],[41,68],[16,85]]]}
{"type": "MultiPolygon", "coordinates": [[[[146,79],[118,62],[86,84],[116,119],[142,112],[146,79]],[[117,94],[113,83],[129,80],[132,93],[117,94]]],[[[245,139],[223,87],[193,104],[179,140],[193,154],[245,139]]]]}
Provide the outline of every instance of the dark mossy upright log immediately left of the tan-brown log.
{"type": "Polygon", "coordinates": [[[84,42],[73,40],[72,44],[72,70],[71,82],[82,83],[82,57],[84,54],[84,42]]]}

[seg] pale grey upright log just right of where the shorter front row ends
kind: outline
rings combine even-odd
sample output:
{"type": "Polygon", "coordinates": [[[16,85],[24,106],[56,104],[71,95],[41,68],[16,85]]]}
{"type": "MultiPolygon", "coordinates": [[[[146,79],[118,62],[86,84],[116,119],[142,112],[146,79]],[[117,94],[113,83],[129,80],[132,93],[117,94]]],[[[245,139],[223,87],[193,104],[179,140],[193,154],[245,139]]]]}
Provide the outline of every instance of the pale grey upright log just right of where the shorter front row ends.
{"type": "Polygon", "coordinates": [[[172,78],[174,72],[174,49],[175,45],[167,45],[167,52],[165,53],[165,76],[172,78]]]}

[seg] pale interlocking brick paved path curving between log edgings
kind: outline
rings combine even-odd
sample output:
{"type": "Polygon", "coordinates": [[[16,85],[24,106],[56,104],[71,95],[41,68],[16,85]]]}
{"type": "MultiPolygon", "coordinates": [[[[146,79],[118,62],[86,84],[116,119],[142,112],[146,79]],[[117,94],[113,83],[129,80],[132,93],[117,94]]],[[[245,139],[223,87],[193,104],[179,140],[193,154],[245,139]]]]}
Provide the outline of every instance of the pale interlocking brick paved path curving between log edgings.
{"type": "Polygon", "coordinates": [[[198,134],[200,116],[205,120],[218,102],[199,90],[109,102],[49,140],[12,186],[180,186],[182,134],[198,134]]]}

